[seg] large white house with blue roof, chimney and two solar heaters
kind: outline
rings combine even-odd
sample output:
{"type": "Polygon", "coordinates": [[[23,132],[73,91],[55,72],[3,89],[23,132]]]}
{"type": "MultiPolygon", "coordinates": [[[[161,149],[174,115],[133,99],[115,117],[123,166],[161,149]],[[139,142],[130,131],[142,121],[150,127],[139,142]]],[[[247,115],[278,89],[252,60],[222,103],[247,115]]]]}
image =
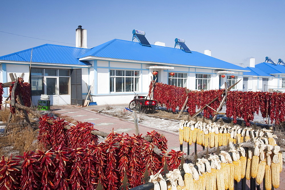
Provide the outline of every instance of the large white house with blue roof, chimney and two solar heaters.
{"type": "MultiPolygon", "coordinates": [[[[248,80],[251,77],[270,78],[266,73],[245,75],[244,72],[256,72],[257,69],[216,59],[210,56],[209,50],[206,51],[208,55],[190,51],[182,39],[177,38],[173,43],[173,47],[176,45],[178,48],[165,47],[161,42],[150,45],[144,33],[140,32],[133,32],[134,41],[114,39],[88,49],[86,30],[79,26],[76,29],[76,48],[44,44],[1,56],[0,82],[10,81],[9,73],[19,76],[24,72],[24,80],[32,84],[34,104],[41,94],[48,94],[52,105],[81,105],[92,84],[93,102],[118,104],[130,102],[134,92],[148,94],[151,77],[157,78],[157,82],[192,90],[224,88],[225,82],[231,86],[245,77],[248,80]],[[157,75],[154,76],[153,71],[157,75]]],[[[254,90],[253,85],[250,86],[248,89],[254,90]]],[[[243,90],[243,87],[242,80],[234,90],[243,90]]],[[[259,87],[262,85],[257,90],[259,87]]]]}

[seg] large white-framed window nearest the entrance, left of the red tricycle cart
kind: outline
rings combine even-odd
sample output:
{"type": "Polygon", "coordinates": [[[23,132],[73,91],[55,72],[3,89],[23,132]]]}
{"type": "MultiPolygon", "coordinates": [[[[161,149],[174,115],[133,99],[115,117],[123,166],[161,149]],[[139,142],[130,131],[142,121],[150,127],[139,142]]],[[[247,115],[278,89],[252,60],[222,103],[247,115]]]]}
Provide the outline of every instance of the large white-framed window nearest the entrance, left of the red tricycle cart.
{"type": "Polygon", "coordinates": [[[110,70],[110,92],[139,91],[139,71],[110,70]]]}

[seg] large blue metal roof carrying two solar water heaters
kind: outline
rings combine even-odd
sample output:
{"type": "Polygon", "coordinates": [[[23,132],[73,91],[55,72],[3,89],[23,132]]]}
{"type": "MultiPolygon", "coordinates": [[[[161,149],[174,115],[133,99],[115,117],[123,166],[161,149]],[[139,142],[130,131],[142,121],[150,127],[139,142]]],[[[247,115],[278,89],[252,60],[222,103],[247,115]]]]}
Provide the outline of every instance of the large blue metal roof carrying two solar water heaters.
{"type": "Polygon", "coordinates": [[[196,51],[186,53],[177,48],[154,45],[146,47],[139,42],[118,39],[96,46],[79,58],[88,56],[247,71],[243,67],[196,51]]]}

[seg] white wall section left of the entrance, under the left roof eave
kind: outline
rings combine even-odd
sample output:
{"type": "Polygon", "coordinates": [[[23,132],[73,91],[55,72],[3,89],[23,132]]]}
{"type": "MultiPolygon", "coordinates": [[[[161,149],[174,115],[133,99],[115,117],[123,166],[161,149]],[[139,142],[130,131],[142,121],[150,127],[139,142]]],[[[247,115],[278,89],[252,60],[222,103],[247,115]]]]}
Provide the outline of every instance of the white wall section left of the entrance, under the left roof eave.
{"type": "Polygon", "coordinates": [[[25,73],[24,81],[29,82],[29,72],[30,72],[30,65],[15,65],[15,64],[6,64],[6,71],[7,71],[7,82],[10,82],[10,73],[16,73],[17,77],[21,77],[22,73],[25,73]]]}

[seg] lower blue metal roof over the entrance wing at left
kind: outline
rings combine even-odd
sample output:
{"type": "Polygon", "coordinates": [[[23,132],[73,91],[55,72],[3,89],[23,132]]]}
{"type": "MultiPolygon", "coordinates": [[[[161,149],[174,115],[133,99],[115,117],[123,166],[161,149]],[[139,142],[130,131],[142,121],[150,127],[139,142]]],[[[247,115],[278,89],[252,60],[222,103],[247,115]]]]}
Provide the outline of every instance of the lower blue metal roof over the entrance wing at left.
{"type": "Polygon", "coordinates": [[[16,53],[4,55],[0,57],[0,62],[1,60],[30,62],[32,49],[32,62],[58,63],[68,65],[90,65],[90,63],[87,61],[79,61],[79,59],[77,59],[78,56],[87,53],[90,51],[90,49],[60,46],[54,44],[44,44],[16,53]]]}

